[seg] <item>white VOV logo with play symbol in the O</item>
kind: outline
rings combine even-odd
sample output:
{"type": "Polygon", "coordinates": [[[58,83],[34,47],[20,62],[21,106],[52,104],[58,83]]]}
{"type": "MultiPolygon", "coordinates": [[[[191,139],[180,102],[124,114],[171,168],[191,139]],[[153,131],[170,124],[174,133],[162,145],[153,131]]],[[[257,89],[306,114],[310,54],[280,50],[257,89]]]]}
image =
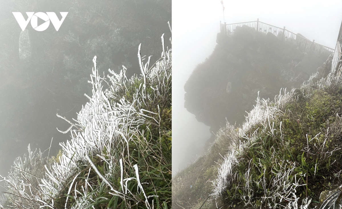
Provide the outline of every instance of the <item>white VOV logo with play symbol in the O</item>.
{"type": "Polygon", "coordinates": [[[24,31],[28,22],[31,20],[31,26],[37,30],[37,31],[43,31],[45,29],[47,29],[50,25],[50,20],[52,22],[52,25],[55,27],[56,31],[58,31],[58,29],[60,29],[66,15],[68,14],[68,12],[60,12],[60,14],[62,15],[62,19],[59,20],[56,13],[54,12],[26,12],[28,18],[27,20],[25,20],[24,16],[22,15],[21,12],[12,12],[15,19],[17,20],[19,26],[21,27],[21,29],[24,31]],[[45,22],[43,24],[38,25],[38,17],[42,20],[44,20],[45,22]]]}

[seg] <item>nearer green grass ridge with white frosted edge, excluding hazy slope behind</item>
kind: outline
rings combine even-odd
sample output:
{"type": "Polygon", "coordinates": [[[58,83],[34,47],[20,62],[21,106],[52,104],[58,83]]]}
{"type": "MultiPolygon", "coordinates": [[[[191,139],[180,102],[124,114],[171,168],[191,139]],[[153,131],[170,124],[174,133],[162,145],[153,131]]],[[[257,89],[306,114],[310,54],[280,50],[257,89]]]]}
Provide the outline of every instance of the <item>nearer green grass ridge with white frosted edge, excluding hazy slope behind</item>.
{"type": "Polygon", "coordinates": [[[238,131],[239,141],[230,137],[232,148],[213,182],[213,195],[227,204],[280,208],[298,208],[300,198],[317,199],[313,190],[319,184],[341,177],[341,81],[329,74],[275,102],[258,99],[238,131]]]}

